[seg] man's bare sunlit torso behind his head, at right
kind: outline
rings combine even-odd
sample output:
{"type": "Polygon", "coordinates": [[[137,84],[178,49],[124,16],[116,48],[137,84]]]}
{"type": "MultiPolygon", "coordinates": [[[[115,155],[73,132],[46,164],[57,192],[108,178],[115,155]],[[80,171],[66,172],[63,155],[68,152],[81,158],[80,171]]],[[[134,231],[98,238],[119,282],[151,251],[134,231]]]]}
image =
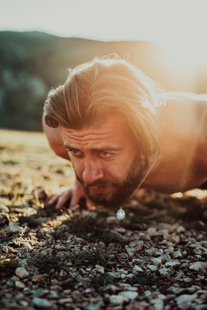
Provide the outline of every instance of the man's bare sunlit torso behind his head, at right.
{"type": "Polygon", "coordinates": [[[166,96],[160,154],[143,187],[184,192],[207,181],[207,95],[166,96]]]}

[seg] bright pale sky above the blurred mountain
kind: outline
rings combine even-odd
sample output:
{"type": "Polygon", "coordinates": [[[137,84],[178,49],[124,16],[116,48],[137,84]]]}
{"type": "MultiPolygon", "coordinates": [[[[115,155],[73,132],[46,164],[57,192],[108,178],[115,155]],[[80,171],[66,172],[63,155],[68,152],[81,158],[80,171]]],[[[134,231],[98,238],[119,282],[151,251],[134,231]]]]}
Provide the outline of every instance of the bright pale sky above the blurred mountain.
{"type": "Polygon", "coordinates": [[[0,0],[0,31],[7,30],[145,40],[207,63],[207,0],[0,0]]]}

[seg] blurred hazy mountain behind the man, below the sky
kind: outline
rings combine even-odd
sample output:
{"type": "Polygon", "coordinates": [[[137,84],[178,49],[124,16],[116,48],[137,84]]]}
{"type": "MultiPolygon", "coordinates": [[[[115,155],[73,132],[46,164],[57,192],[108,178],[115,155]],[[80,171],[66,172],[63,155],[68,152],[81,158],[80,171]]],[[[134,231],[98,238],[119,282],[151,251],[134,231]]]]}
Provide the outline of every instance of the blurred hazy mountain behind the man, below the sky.
{"type": "Polygon", "coordinates": [[[41,131],[42,106],[63,84],[68,68],[97,55],[129,54],[129,61],[169,91],[207,92],[207,70],[173,67],[161,46],[143,41],[101,42],[40,32],[0,32],[0,127],[41,131]],[[200,89],[198,89],[198,81],[200,89]]]}

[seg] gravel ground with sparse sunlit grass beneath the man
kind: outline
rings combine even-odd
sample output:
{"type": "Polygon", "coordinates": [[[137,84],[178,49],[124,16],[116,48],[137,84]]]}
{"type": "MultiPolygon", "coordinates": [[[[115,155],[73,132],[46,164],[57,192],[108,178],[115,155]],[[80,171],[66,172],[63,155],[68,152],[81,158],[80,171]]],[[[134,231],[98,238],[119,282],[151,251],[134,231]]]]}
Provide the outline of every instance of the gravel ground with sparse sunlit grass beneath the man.
{"type": "Polygon", "coordinates": [[[68,182],[62,162],[51,155],[50,163],[44,148],[34,160],[26,147],[18,157],[5,145],[1,310],[207,309],[207,191],[140,189],[123,220],[84,202],[73,213],[55,210],[45,203],[46,187],[68,182]],[[28,185],[28,175],[39,188],[28,185]]]}

